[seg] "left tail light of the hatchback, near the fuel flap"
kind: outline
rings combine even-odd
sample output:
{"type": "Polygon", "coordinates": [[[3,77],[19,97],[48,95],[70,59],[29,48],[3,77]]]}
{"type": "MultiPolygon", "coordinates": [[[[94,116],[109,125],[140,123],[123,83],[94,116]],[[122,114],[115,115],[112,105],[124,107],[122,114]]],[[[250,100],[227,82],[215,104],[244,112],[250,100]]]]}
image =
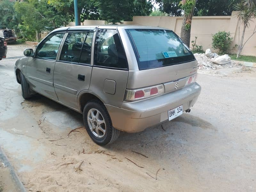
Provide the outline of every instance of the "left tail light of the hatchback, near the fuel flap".
{"type": "Polygon", "coordinates": [[[164,93],[164,85],[159,84],[151,87],[144,87],[140,89],[126,90],[125,98],[126,101],[135,101],[161,95],[164,93]]]}

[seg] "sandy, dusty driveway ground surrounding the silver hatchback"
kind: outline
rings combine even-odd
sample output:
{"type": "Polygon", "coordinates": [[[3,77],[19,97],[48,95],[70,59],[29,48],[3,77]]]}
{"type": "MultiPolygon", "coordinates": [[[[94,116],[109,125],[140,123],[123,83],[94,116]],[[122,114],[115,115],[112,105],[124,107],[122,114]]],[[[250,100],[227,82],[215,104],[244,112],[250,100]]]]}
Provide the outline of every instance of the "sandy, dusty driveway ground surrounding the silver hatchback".
{"type": "Polygon", "coordinates": [[[254,69],[199,74],[190,113],[100,147],[81,114],[23,100],[12,59],[23,49],[0,61],[0,145],[28,191],[256,191],[254,69]]]}

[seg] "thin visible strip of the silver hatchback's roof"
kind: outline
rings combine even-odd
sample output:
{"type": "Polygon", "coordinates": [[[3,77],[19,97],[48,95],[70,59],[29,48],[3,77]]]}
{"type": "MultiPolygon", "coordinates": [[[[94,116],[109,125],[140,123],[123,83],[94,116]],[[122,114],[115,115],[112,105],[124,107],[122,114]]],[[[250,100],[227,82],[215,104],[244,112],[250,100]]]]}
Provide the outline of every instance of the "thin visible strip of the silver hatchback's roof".
{"type": "Polygon", "coordinates": [[[83,29],[96,29],[96,28],[104,28],[104,29],[162,29],[162,30],[170,30],[162,27],[154,27],[154,26],[141,26],[141,25],[92,25],[92,26],[70,26],[70,27],[62,27],[54,29],[52,32],[61,32],[61,31],[72,31],[72,30],[83,30],[83,29]]]}

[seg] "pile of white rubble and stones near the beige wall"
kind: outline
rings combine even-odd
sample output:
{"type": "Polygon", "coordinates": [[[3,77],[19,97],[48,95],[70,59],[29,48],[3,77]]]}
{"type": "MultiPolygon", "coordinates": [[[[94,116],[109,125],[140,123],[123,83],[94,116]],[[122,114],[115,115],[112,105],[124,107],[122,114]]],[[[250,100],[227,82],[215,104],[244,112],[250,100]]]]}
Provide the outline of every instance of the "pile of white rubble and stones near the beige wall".
{"type": "Polygon", "coordinates": [[[219,56],[217,53],[212,53],[210,49],[207,49],[205,53],[195,53],[198,63],[198,69],[221,69],[236,67],[236,64],[231,61],[228,55],[219,56]]]}

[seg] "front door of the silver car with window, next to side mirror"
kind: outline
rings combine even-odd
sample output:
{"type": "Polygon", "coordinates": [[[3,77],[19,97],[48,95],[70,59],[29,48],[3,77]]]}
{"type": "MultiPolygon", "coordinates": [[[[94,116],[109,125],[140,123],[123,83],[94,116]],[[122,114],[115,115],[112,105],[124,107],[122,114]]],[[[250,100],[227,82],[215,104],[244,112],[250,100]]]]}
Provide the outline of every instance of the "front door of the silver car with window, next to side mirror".
{"type": "Polygon", "coordinates": [[[29,57],[26,66],[28,83],[32,90],[58,100],[53,87],[53,71],[60,43],[65,33],[54,33],[41,42],[35,57],[29,57]]]}

